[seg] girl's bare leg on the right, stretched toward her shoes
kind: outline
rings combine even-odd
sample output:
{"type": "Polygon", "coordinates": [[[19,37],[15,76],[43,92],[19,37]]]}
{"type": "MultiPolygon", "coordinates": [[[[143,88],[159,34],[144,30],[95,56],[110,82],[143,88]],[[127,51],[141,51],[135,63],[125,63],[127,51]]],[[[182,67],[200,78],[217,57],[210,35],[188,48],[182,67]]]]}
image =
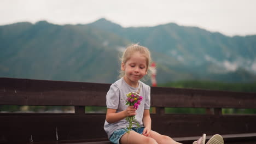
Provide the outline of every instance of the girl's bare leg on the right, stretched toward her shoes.
{"type": "MultiPolygon", "coordinates": [[[[171,137],[166,136],[166,135],[161,135],[159,133],[156,133],[155,131],[151,131],[150,132],[150,137],[152,137],[154,140],[156,140],[156,142],[158,142],[159,144],[178,144],[179,142],[174,141],[171,137]]],[[[181,143],[179,143],[181,144],[181,143]]]]}

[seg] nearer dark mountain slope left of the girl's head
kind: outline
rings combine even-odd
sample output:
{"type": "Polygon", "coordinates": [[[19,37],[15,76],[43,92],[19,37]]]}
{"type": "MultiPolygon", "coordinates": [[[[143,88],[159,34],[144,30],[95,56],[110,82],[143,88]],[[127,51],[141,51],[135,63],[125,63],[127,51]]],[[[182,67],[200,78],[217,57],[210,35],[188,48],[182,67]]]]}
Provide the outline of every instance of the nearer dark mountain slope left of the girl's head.
{"type": "Polygon", "coordinates": [[[127,44],[112,33],[45,21],[2,26],[0,35],[1,77],[110,82],[118,75],[118,52],[103,42],[127,44]]]}

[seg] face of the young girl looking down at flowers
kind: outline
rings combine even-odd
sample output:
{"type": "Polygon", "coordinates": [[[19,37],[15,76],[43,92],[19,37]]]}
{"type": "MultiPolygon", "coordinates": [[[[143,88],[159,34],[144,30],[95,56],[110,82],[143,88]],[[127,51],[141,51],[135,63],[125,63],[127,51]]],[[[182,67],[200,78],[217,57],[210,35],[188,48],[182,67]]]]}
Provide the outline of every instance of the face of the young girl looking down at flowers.
{"type": "Polygon", "coordinates": [[[139,52],[133,53],[126,63],[121,64],[121,70],[124,70],[124,80],[130,86],[137,86],[138,81],[147,74],[147,60],[139,52]]]}

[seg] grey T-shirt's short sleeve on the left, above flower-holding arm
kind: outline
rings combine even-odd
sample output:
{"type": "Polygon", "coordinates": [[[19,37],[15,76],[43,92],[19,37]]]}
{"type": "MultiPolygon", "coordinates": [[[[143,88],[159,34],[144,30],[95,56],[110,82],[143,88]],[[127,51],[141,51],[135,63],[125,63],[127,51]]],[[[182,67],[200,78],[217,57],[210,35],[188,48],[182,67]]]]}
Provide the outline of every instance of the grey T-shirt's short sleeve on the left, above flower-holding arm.
{"type": "Polygon", "coordinates": [[[116,83],[113,83],[106,95],[106,104],[108,109],[118,109],[119,105],[119,88],[116,83]]]}

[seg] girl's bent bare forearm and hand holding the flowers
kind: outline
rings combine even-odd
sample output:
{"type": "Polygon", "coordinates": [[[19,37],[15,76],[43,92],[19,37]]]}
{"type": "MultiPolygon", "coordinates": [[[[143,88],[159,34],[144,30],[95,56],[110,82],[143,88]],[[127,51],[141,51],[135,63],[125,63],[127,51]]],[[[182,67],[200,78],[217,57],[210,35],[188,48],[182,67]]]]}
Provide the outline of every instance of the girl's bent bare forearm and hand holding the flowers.
{"type": "Polygon", "coordinates": [[[121,121],[122,119],[126,118],[127,116],[134,116],[136,115],[136,110],[133,106],[128,106],[126,110],[118,112],[115,109],[107,109],[106,121],[108,123],[115,123],[121,121]]]}

